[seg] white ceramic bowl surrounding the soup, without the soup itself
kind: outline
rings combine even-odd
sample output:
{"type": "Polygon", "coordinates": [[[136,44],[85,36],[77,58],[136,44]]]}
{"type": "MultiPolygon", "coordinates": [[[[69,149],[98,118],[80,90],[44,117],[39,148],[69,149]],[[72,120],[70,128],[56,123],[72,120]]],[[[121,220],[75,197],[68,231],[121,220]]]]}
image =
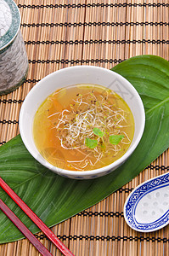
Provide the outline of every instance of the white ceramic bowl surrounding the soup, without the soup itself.
{"type": "Polygon", "coordinates": [[[102,67],[76,66],[63,68],[51,73],[33,87],[25,97],[25,101],[23,102],[20,110],[20,135],[25,143],[25,147],[43,166],[46,166],[48,169],[64,177],[89,179],[104,176],[114,171],[127,160],[134,149],[138,146],[143,135],[144,122],[145,113],[143,102],[141,101],[137,90],[134,89],[127,79],[124,79],[118,73],[114,73],[102,67]],[[120,95],[127,102],[132,111],[135,122],[135,131],[132,143],[126,154],[109,166],[104,166],[103,168],[93,171],[69,171],[49,164],[37,150],[32,134],[32,123],[34,115],[37,112],[37,108],[39,108],[42,102],[55,90],[73,84],[99,84],[104,87],[108,87],[110,90],[114,90],[118,95],[120,95]]]}

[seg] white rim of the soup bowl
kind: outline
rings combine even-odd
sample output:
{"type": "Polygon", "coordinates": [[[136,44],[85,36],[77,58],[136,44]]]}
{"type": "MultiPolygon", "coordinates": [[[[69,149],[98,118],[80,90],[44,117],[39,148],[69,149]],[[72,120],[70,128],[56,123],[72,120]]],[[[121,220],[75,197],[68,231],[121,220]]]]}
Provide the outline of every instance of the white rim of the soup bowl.
{"type": "MultiPolygon", "coordinates": [[[[53,166],[52,164],[50,164],[48,162],[48,160],[44,159],[42,157],[42,154],[39,154],[41,155],[43,161],[40,159],[37,158],[37,154],[35,154],[35,152],[33,151],[32,152],[32,149],[31,149],[31,146],[30,146],[30,143],[26,140],[25,138],[25,135],[24,135],[24,131],[23,131],[23,116],[25,114],[25,107],[26,107],[26,104],[28,104],[27,102],[31,102],[31,96],[34,94],[34,91],[36,90],[39,90],[39,87],[41,87],[42,85],[41,84],[44,84],[44,82],[46,80],[48,80],[48,78],[50,77],[53,77],[55,75],[57,75],[57,73],[65,73],[66,70],[68,69],[78,69],[78,68],[90,68],[90,69],[103,69],[105,72],[108,72],[108,73],[115,73],[114,71],[111,71],[110,69],[106,69],[104,67],[96,67],[96,66],[87,66],[87,65],[82,65],[82,66],[71,66],[71,67],[65,67],[65,68],[61,68],[57,71],[54,71],[53,73],[49,73],[47,76],[45,76],[44,78],[42,78],[39,82],[37,82],[37,84],[34,85],[34,87],[29,91],[29,93],[27,94],[27,96],[25,96],[25,100],[21,106],[21,109],[20,109],[20,117],[19,117],[19,127],[20,127],[20,136],[22,138],[22,141],[23,143],[25,144],[25,148],[27,148],[27,150],[30,152],[30,154],[34,157],[34,159],[36,159],[37,161],[39,161],[43,166],[47,167],[49,170],[57,173],[57,174],[60,174],[62,176],[69,176],[69,177],[87,177],[87,176],[94,176],[96,174],[99,174],[99,173],[102,173],[102,172],[108,172],[108,170],[114,170],[116,168],[116,166],[121,166],[121,164],[127,160],[127,158],[133,153],[133,151],[135,150],[135,148],[137,148],[138,146],[138,143],[139,141],[141,140],[141,137],[143,136],[143,133],[144,133],[144,125],[145,125],[145,112],[144,112],[144,104],[141,100],[141,97],[139,96],[138,94],[138,91],[133,87],[133,85],[127,80],[125,79],[124,77],[122,77],[119,73],[115,73],[115,75],[117,77],[119,77],[120,79],[122,79],[123,81],[125,81],[127,84],[129,84],[130,86],[130,90],[132,90],[132,92],[134,93],[134,96],[137,97],[137,101],[138,101],[138,105],[140,107],[140,110],[141,110],[141,125],[139,127],[139,131],[138,131],[138,137],[135,139],[135,142],[132,144],[132,146],[130,148],[127,149],[127,152],[125,154],[123,154],[121,156],[120,159],[118,160],[115,160],[113,163],[111,163],[110,165],[108,166],[104,166],[104,167],[101,167],[101,168],[97,168],[97,169],[94,169],[94,170],[90,170],[90,171],[71,171],[71,170],[67,170],[67,169],[62,169],[62,168],[59,168],[57,166],[53,166]],[[45,164],[44,164],[45,163],[45,164]]],[[[72,84],[73,85],[73,84],[72,84]]],[[[56,88],[57,90],[57,88],[56,88]]],[[[53,91],[54,92],[54,91],[53,91]]],[[[51,95],[53,92],[51,92],[49,95],[51,95]]],[[[48,95],[48,96],[49,96],[48,95]]],[[[45,96],[41,102],[43,102],[48,96],[45,96]]],[[[134,119],[135,120],[135,119],[134,119]]],[[[32,133],[31,133],[32,135],[32,133]]],[[[34,142],[34,140],[33,140],[34,142]]],[[[34,143],[35,144],[35,143],[34,143]]],[[[35,145],[36,147],[36,145],[35,145]]],[[[37,148],[37,147],[36,147],[37,148]]]]}

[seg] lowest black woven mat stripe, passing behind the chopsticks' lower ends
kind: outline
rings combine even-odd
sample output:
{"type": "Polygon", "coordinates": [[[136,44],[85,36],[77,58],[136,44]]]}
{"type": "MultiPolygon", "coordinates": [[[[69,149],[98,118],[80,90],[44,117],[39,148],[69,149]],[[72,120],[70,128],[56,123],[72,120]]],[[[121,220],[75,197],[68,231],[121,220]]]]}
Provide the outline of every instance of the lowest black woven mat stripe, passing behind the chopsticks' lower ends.
{"type": "MultiPolygon", "coordinates": [[[[45,235],[35,235],[38,239],[47,239],[48,237],[45,235]]],[[[161,237],[144,237],[144,236],[60,236],[57,235],[57,237],[63,241],[65,240],[89,240],[89,241],[151,241],[151,242],[168,242],[168,238],[161,238],[161,237]]]]}

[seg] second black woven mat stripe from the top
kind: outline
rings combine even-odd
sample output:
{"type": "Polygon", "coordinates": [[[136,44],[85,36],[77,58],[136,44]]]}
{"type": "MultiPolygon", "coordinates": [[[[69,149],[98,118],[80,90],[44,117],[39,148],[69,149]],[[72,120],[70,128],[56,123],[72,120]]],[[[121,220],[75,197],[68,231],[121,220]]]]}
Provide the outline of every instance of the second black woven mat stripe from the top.
{"type": "Polygon", "coordinates": [[[169,26],[168,22],[148,22],[148,21],[142,21],[142,22],[60,22],[60,23],[22,23],[21,26],[169,26]]]}

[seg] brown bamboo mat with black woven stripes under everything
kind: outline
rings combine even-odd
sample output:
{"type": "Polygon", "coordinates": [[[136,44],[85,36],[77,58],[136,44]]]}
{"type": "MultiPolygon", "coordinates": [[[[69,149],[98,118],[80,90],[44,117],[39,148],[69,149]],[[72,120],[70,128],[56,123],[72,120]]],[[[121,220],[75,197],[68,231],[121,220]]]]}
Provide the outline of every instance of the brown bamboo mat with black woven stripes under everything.
{"type": "MultiPolygon", "coordinates": [[[[134,55],[169,61],[168,0],[15,0],[29,58],[29,73],[18,90],[0,97],[0,144],[19,133],[20,107],[31,88],[49,73],[73,65],[110,68],[134,55]]],[[[52,228],[75,255],[169,255],[169,227],[153,233],[130,229],[123,216],[129,193],[139,183],[169,171],[168,152],[138,177],[94,207],[52,228]]],[[[42,233],[54,255],[59,251],[42,233]]],[[[1,256],[36,256],[26,239],[0,246],[1,256]]]]}

